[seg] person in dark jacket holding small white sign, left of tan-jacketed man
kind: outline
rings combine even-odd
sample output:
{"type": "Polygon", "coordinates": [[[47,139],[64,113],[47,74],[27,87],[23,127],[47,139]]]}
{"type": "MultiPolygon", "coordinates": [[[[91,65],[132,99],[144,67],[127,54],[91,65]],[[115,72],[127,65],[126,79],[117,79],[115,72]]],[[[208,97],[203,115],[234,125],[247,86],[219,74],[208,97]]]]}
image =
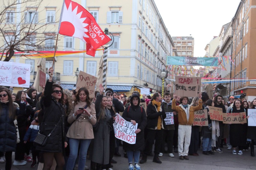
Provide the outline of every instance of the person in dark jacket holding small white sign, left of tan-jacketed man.
{"type": "MultiPolygon", "coordinates": [[[[177,113],[172,109],[172,100],[171,100],[171,93],[165,92],[164,93],[164,100],[162,100],[161,106],[164,107],[165,113],[172,112],[173,115],[177,113]]],[[[167,153],[169,157],[174,157],[172,154],[172,146],[173,146],[173,135],[174,135],[174,121],[173,124],[165,125],[166,128],[163,130],[163,140],[161,144],[161,150],[158,156],[163,156],[163,153],[166,152],[164,149],[165,141],[167,143],[167,153]]]]}

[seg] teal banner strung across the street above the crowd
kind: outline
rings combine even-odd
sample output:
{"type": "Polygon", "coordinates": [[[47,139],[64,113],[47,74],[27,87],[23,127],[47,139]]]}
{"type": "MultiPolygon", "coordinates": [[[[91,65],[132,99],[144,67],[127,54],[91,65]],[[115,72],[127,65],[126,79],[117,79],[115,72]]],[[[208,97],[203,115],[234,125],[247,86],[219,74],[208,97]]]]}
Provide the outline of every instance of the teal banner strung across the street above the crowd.
{"type": "Polygon", "coordinates": [[[218,66],[218,58],[167,56],[167,65],[218,66]]]}

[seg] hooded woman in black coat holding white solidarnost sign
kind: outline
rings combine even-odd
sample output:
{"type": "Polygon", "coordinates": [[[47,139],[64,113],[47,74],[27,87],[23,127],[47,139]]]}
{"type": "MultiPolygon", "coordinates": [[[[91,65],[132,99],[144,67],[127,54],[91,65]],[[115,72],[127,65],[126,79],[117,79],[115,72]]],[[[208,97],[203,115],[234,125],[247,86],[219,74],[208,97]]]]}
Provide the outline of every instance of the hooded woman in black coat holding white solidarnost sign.
{"type": "Polygon", "coordinates": [[[131,106],[125,108],[122,117],[128,122],[132,122],[133,125],[138,123],[138,128],[135,130],[135,144],[128,144],[124,142],[124,149],[126,150],[128,156],[129,169],[133,167],[133,155],[135,167],[136,169],[139,169],[140,166],[138,165],[138,163],[140,158],[140,151],[144,149],[144,129],[147,125],[147,115],[144,108],[140,106],[140,98],[138,94],[132,94],[130,104],[131,106]]]}

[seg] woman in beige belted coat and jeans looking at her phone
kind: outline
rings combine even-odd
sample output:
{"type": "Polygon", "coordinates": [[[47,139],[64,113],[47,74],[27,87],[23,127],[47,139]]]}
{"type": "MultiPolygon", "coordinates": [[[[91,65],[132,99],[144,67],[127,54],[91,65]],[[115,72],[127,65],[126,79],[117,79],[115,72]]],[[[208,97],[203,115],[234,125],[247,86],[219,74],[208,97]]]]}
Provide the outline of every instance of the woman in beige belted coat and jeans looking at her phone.
{"type": "Polygon", "coordinates": [[[67,133],[70,147],[67,170],[73,170],[74,168],[79,143],[78,169],[84,169],[87,150],[91,139],[94,138],[92,125],[94,125],[96,121],[95,105],[91,103],[89,91],[85,87],[82,87],[76,93],[74,113],[68,115],[68,123],[70,123],[71,126],[67,133]]]}

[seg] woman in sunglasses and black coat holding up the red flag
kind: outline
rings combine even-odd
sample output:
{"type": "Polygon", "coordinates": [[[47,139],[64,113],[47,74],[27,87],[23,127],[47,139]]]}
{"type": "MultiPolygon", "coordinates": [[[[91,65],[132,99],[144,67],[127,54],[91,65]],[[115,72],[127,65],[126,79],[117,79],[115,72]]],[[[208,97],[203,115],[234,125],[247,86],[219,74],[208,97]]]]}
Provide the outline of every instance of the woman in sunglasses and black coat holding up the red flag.
{"type": "Polygon", "coordinates": [[[56,170],[62,170],[65,164],[63,149],[67,147],[67,137],[65,133],[65,108],[63,106],[62,87],[53,84],[53,69],[48,70],[49,80],[46,82],[44,89],[44,97],[42,98],[43,112],[39,112],[38,120],[40,123],[40,133],[48,136],[45,146],[37,145],[36,149],[44,152],[44,168],[50,169],[53,158],[55,158],[57,166],[56,170]],[[41,113],[41,114],[40,114],[41,113]],[[55,128],[55,129],[54,129],[55,128]]]}

